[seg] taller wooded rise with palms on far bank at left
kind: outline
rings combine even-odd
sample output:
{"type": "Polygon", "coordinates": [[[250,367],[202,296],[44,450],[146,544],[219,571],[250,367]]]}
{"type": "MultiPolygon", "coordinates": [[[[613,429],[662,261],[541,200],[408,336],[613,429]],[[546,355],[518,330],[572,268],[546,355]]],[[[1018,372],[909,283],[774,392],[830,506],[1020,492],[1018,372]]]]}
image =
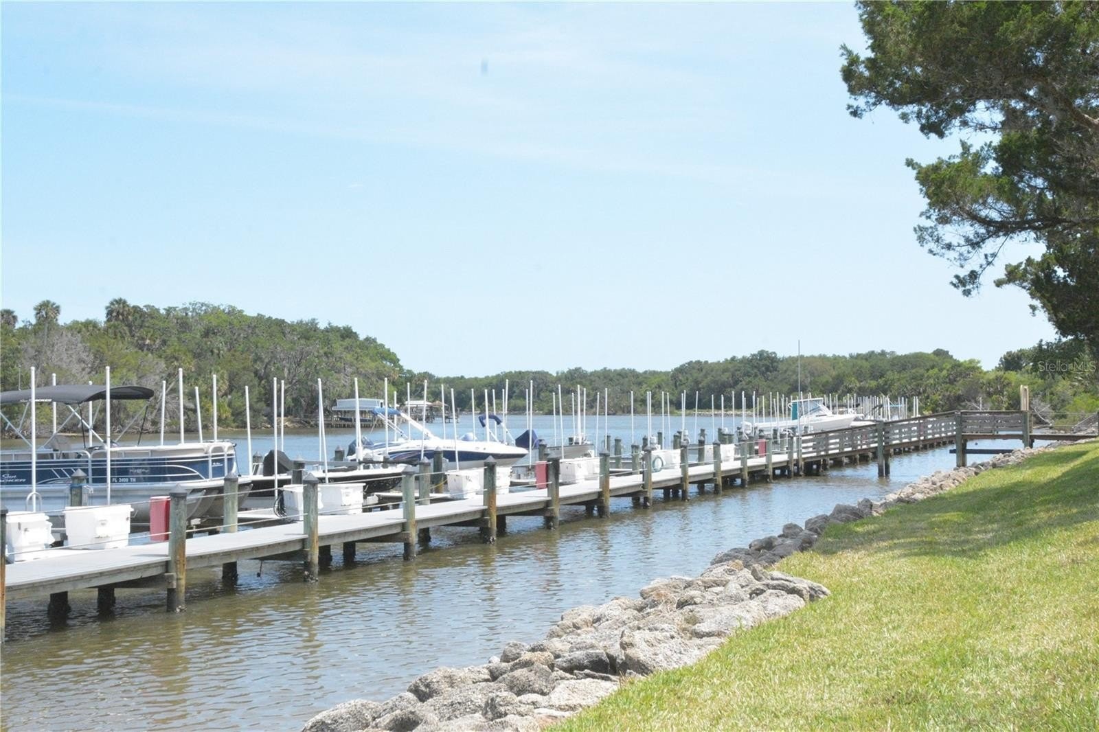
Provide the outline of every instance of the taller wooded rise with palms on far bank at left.
{"type": "MultiPolygon", "coordinates": [[[[195,387],[199,409],[210,423],[212,375],[218,375],[218,421],[244,426],[244,387],[248,387],[253,424],[270,422],[274,379],[286,381],[286,413],[315,421],[317,379],[329,396],[352,393],[359,379],[364,395],[380,395],[382,379],[403,375],[397,355],[370,336],[346,325],[321,325],[315,320],[287,321],[249,315],[232,306],[191,302],[181,307],[135,306],[122,298],[108,303],[102,321],[75,320],[62,324],[60,307],[45,300],[33,319],[20,321],[11,310],[0,311],[0,384],[4,390],[27,388],[30,369],[38,386],[102,384],[111,367],[112,384],[154,389],[159,400],[167,381],[167,424],[178,429],[177,369],[184,369],[185,422],[195,428],[195,387]]],[[[120,406],[120,420],[144,404],[120,406]]],[[[151,418],[152,420],[152,418],[151,418]]],[[[152,420],[158,424],[159,415],[152,420]]]]}

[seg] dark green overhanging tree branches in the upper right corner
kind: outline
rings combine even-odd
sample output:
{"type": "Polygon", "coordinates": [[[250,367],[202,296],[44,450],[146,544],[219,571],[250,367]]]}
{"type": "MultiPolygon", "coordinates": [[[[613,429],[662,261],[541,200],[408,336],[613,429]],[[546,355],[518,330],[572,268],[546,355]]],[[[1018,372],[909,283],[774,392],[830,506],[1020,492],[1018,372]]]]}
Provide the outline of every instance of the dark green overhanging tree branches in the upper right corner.
{"type": "Polygon", "coordinates": [[[926,199],[919,243],[976,291],[1006,263],[1057,331],[1099,345],[1099,3],[858,2],[868,53],[843,46],[856,118],[879,106],[955,155],[909,159],[926,199]]]}

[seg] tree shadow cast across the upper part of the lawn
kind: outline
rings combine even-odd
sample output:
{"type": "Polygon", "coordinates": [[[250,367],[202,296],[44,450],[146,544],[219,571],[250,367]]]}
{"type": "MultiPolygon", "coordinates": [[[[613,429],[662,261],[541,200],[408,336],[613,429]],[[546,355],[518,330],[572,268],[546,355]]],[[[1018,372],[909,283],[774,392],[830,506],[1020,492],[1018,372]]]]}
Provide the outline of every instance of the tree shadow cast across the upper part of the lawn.
{"type": "Polygon", "coordinates": [[[1046,453],[1028,461],[1026,469],[1030,476],[1015,469],[1010,480],[991,490],[952,490],[907,507],[902,518],[886,514],[874,524],[853,524],[850,534],[822,542],[817,551],[973,559],[1051,531],[1099,521],[1099,453],[1046,453]],[[1045,470],[1054,472],[1048,480],[1033,477],[1045,470]]]}

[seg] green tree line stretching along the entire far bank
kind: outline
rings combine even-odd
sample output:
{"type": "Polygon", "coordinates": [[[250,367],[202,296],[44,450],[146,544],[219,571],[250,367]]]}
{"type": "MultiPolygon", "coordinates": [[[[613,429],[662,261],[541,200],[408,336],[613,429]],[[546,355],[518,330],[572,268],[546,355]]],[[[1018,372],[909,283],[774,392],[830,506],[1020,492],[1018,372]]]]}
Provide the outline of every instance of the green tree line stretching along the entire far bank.
{"type": "MultiPolygon", "coordinates": [[[[385,379],[390,393],[400,401],[406,384],[413,398],[422,395],[429,381],[429,399],[440,398],[440,387],[449,393],[462,411],[474,399],[484,409],[485,392],[495,393],[497,409],[503,409],[502,395],[510,392],[508,410],[522,414],[526,390],[533,381],[534,409],[552,410],[560,385],[570,410],[570,392],[579,386],[588,391],[588,409],[593,413],[597,392],[606,393],[611,413],[645,410],[645,395],[653,392],[653,409],[659,411],[659,395],[671,396],[678,409],[680,392],[687,392],[688,409],[709,409],[710,398],[720,404],[725,397],[728,410],[740,409],[745,395],[889,395],[892,398],[920,399],[923,412],[965,409],[980,406],[1014,409],[1019,387],[1028,385],[1032,402],[1056,411],[1094,412],[1099,410],[1099,379],[1096,362],[1083,340],[1039,343],[1031,348],[1003,355],[996,368],[985,369],[975,359],[959,361],[943,350],[931,353],[897,354],[870,351],[848,355],[779,356],[757,351],[723,361],[691,361],[670,370],[632,368],[570,368],[560,371],[512,370],[492,376],[439,377],[413,373],[401,366],[397,355],[370,336],[360,336],[346,325],[320,325],[315,320],[286,321],[267,315],[249,315],[230,306],[192,302],[181,307],[133,306],[121,298],[111,300],[99,320],[60,323],[60,307],[43,301],[34,308],[33,319],[20,321],[10,310],[0,311],[0,382],[3,389],[26,388],[30,368],[37,370],[40,386],[56,374],[58,382],[103,380],[103,368],[112,369],[113,384],[137,384],[157,393],[167,381],[167,424],[178,429],[177,369],[185,373],[185,411],[188,430],[193,430],[195,387],[199,387],[199,408],[209,424],[213,395],[211,375],[218,375],[218,417],[224,426],[243,426],[244,387],[249,390],[253,425],[270,423],[274,379],[286,381],[286,412],[304,423],[317,419],[317,379],[324,384],[325,403],[331,407],[341,397],[352,396],[353,379],[359,380],[363,397],[380,396],[385,379]]],[[[119,419],[132,417],[142,406],[120,407],[119,419]]],[[[602,407],[602,404],[601,404],[602,407]]],[[[9,408],[11,409],[11,408],[9,408]]],[[[155,429],[158,415],[147,421],[155,429]]]]}

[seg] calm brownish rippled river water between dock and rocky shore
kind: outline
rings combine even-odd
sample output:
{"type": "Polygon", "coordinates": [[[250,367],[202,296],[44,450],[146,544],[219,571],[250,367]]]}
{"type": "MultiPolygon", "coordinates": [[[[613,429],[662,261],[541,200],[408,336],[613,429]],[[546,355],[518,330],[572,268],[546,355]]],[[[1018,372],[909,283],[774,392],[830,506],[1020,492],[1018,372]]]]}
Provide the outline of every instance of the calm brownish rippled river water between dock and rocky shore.
{"type": "MultiPolygon", "coordinates": [[[[708,417],[699,426],[712,434],[708,417]]],[[[611,425],[629,441],[629,417],[612,417],[611,425]]],[[[639,441],[643,432],[637,420],[639,441]]],[[[330,452],[349,441],[333,437],[330,452]]],[[[296,435],[291,444],[288,434],[287,446],[291,456],[293,447],[315,455],[315,436],[296,435]]],[[[344,567],[337,550],[317,585],[287,563],[241,563],[231,589],[217,570],[198,570],[188,575],[179,615],[165,613],[164,594],[154,590],[119,590],[110,618],[97,617],[93,591],[73,592],[73,612],[55,628],[44,599],[9,603],[0,725],[299,729],[341,701],[397,694],[435,666],[484,663],[509,640],[533,642],[568,608],[633,596],[656,577],[697,574],[718,552],[787,521],[884,495],[953,462],[940,448],[898,456],[889,479],[864,464],[720,498],[692,495],[687,503],[665,504],[657,491],[652,509],[618,499],[608,519],[564,509],[557,532],[542,529],[541,519],[512,517],[492,546],[476,530],[436,529],[414,563],[402,562],[392,544],[360,547],[344,567]]]]}

